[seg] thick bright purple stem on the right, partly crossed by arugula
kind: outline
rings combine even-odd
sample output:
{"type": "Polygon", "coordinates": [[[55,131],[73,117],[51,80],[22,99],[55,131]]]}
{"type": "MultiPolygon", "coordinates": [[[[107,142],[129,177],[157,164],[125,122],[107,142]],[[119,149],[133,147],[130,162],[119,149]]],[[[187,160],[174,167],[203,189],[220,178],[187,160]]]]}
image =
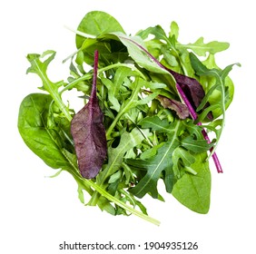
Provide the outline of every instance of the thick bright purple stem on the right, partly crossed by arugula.
{"type": "MultiPolygon", "coordinates": [[[[179,85],[179,83],[176,83],[176,88],[177,91],[180,93],[183,102],[186,104],[186,106],[188,107],[190,114],[192,116],[192,120],[196,120],[197,119],[197,113],[194,111],[194,109],[192,108],[192,104],[190,103],[190,101],[188,100],[187,96],[185,95],[185,93],[182,91],[182,87],[179,85]]],[[[202,122],[198,122],[197,125],[202,125],[202,122]]],[[[206,131],[204,129],[202,129],[202,135],[204,137],[204,139],[210,143],[211,140],[209,138],[209,136],[207,135],[206,131]]],[[[210,151],[212,151],[212,148],[210,149],[210,151]]],[[[218,171],[218,173],[222,173],[222,165],[221,162],[219,161],[219,158],[216,154],[216,152],[212,153],[212,159],[214,161],[214,164],[216,166],[216,169],[218,171]]]]}

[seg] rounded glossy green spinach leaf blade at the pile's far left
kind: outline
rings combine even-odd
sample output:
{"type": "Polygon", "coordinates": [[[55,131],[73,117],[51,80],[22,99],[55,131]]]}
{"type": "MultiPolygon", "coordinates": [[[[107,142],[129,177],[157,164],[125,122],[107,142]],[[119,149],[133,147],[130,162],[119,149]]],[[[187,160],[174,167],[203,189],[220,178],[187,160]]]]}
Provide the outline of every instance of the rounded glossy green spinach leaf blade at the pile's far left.
{"type": "Polygon", "coordinates": [[[25,144],[53,169],[67,169],[71,164],[66,159],[60,136],[61,130],[48,126],[48,116],[53,98],[44,93],[32,93],[20,105],[18,130],[25,144]]]}

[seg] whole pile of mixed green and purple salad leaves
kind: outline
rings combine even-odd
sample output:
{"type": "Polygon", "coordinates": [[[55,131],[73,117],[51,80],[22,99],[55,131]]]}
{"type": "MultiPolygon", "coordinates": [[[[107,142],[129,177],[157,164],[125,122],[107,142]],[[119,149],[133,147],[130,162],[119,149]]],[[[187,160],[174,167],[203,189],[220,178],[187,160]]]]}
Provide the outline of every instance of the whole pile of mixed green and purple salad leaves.
{"type": "Polygon", "coordinates": [[[163,200],[162,181],[184,206],[208,212],[209,159],[222,172],[215,149],[233,98],[234,64],[222,70],[215,63],[228,43],[201,37],[181,44],[178,35],[175,22],[169,34],[156,25],[127,35],[113,16],[93,11],[75,31],[77,50],[64,60],[64,81],[47,76],[54,51],[27,55],[27,73],[43,86],[21,103],[19,132],[56,175],[74,177],[83,203],[158,225],[141,200],[163,200]],[[79,112],[62,99],[71,90],[84,99],[79,112]]]}

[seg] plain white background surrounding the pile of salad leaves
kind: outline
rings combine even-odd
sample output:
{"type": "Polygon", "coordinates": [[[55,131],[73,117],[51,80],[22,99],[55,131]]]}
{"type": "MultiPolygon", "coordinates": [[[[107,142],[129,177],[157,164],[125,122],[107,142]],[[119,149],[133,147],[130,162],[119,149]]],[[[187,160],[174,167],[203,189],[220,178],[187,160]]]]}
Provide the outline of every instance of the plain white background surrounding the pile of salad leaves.
{"type": "MultiPolygon", "coordinates": [[[[59,244],[136,243],[144,241],[197,241],[197,251],[149,251],[131,253],[255,253],[255,12],[253,1],[5,1],[0,9],[1,73],[1,173],[0,252],[9,253],[113,253],[112,251],[64,251],[59,244]],[[17,132],[19,104],[37,91],[39,79],[26,75],[28,53],[57,51],[51,67],[54,81],[68,75],[62,60],[75,50],[74,34],[84,15],[103,10],[123,25],[127,34],[161,24],[169,32],[171,21],[180,26],[180,42],[200,36],[231,43],[217,54],[221,67],[240,62],[231,78],[235,96],[227,111],[226,128],[217,153],[223,174],[212,167],[212,205],[199,215],[182,207],[171,195],[165,202],[145,199],[150,215],[161,220],[157,227],[130,216],[113,217],[78,200],[76,183],[54,173],[28,150],[17,132]]],[[[128,253],[115,251],[114,253],[128,253]]]]}

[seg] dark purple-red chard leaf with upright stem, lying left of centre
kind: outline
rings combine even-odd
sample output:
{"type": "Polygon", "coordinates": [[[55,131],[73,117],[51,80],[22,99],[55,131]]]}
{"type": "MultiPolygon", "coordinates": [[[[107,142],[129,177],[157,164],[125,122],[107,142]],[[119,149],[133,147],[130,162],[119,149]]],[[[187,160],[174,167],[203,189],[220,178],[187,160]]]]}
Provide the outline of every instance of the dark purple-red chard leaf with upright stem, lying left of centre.
{"type": "Polygon", "coordinates": [[[71,133],[81,175],[94,178],[103,166],[107,153],[103,112],[96,95],[98,52],[94,54],[94,81],[92,93],[84,108],[74,115],[71,133]]]}

